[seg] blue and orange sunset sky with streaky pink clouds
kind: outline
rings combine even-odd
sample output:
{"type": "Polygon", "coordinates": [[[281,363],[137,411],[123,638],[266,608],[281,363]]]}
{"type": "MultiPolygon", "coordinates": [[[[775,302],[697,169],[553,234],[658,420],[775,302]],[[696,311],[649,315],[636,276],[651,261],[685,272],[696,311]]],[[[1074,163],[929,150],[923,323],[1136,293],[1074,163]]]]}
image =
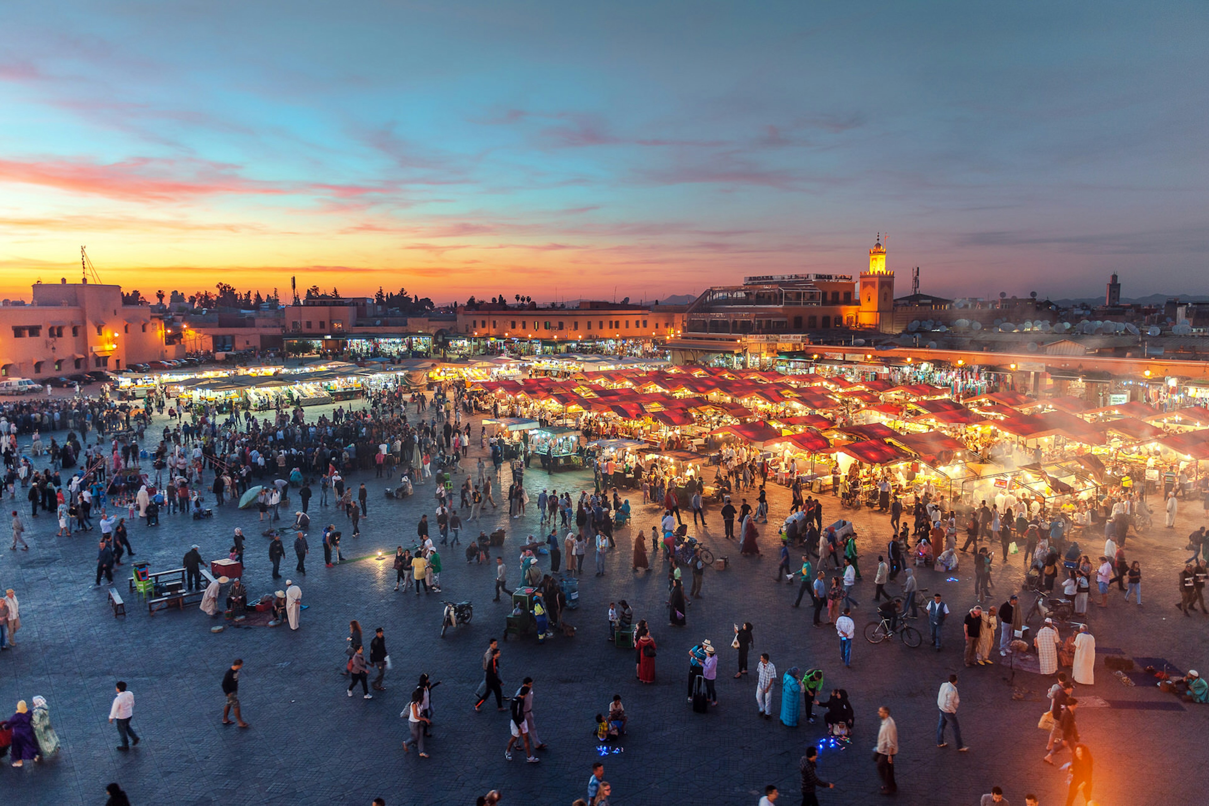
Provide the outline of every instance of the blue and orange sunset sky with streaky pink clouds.
{"type": "Polygon", "coordinates": [[[0,296],[1209,292],[1209,11],[1164,4],[0,6],[0,296]]]}

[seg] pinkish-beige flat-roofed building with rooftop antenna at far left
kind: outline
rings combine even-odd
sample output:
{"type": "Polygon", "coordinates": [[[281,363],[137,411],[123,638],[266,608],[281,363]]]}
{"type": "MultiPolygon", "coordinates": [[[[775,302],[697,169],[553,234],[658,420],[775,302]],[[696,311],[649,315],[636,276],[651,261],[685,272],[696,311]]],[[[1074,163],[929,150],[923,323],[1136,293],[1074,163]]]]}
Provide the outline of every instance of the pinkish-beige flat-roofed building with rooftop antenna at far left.
{"type": "Polygon", "coordinates": [[[33,303],[0,306],[0,377],[47,378],[184,355],[164,346],[147,306],[122,305],[118,285],[34,285],[33,303]]]}

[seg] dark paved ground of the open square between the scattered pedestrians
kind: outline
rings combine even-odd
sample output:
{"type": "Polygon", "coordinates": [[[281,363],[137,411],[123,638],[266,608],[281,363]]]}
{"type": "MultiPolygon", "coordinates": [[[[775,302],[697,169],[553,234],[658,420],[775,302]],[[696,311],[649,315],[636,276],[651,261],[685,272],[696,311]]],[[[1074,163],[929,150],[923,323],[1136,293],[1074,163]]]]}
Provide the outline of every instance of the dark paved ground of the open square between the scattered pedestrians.
{"type": "MultiPolygon", "coordinates": [[[[314,414],[308,410],[308,417],[314,414]]],[[[472,463],[479,454],[472,448],[472,463]]],[[[100,804],[104,785],[117,781],[135,805],[368,805],[375,796],[386,798],[391,806],[467,805],[497,788],[504,804],[561,806],[585,795],[590,766],[600,758],[591,735],[592,717],[607,709],[613,694],[620,694],[630,723],[629,736],[619,746],[624,753],[603,759],[604,777],[613,783],[612,802],[754,806],[764,784],[776,783],[782,802],[797,804],[798,759],[808,743],[822,736],[822,720],[788,729],[756,717],[754,680],[731,679],[731,624],[741,621],[754,624],[752,669],[758,653],[768,651],[780,673],[791,666],[821,666],[826,689],[844,688],[851,696],[856,737],[848,749],[823,750],[820,775],[834,781],[837,788],[821,793],[821,802],[886,800],[878,796],[879,781],[870,760],[879,704],[889,704],[898,724],[901,802],[977,804],[993,784],[1002,785],[1013,804],[1023,804],[1026,790],[1041,795],[1043,806],[1065,799],[1065,776],[1041,762],[1045,735],[1035,727],[1046,707],[1048,682],[1017,673],[1014,685],[1024,698],[1013,700],[1006,667],[959,668],[960,616],[973,603],[970,574],[964,569],[956,574],[959,581],[931,570],[920,575],[921,587],[943,591],[954,611],[943,653],[936,654],[926,644],[914,650],[898,643],[870,645],[858,636],[852,668],[845,669],[834,631],[812,628],[811,610],[791,607],[797,587],[775,580],[774,524],[787,511],[788,492],[771,487],[773,517],[760,534],[760,557],[741,557],[737,546],[728,545],[716,511],[710,528],[699,533],[716,555],[729,555],[731,567],[707,572],[704,598],[693,602],[687,627],[667,625],[665,567],[656,561],[649,573],[630,570],[632,530],[621,529],[607,575],[594,578],[589,572],[579,588],[579,609],[565,614],[566,622],[578,627],[574,638],[560,636],[542,645],[533,638],[503,644],[505,694],[526,675],[536,679],[538,730],[550,746],[538,765],[526,765],[519,754],[508,762],[503,758],[509,736],[507,714],[490,706],[484,713],[472,708],[481,679],[479,657],[487,638],[502,633],[507,610],[504,603],[491,601],[492,569],[467,566],[461,549],[455,547],[442,551],[444,593],[417,598],[394,592],[389,563],[372,557],[380,550],[391,555],[397,545],[410,545],[420,515],[435,506],[433,487],[421,486],[415,497],[394,501],[383,498],[384,482],[372,472],[354,474],[351,481],[365,481],[374,494],[361,537],[345,539],[346,555],[368,558],[324,568],[320,521],[336,516],[320,515],[324,508],[316,505],[316,495],[308,573],[288,574],[299,581],[310,605],[297,632],[247,627],[214,634],[210,627],[218,622],[196,607],[149,616],[133,595],[126,597],[128,615],[115,619],[105,587],[92,586],[93,538],[99,529],[56,538],[57,524],[50,514],[29,518],[28,504],[18,498],[15,504],[21,504],[17,509],[25,520],[31,550],[0,552],[0,586],[16,588],[23,621],[18,645],[0,654],[0,707],[8,714],[17,700],[47,697],[63,750],[44,765],[23,770],[2,765],[4,802],[100,804]],[[444,639],[439,634],[442,598],[469,598],[475,604],[473,624],[444,639]],[[656,685],[640,684],[634,653],[606,639],[608,603],[620,598],[631,603],[636,619],[650,622],[659,644],[656,685]],[[394,669],[387,677],[389,690],[374,700],[345,696],[347,680],[340,669],[351,619],[361,622],[366,642],[375,627],[386,628],[394,669]],[[719,706],[706,715],[693,713],[684,700],[687,650],[702,638],[710,638],[722,657],[719,706]],[[245,661],[239,696],[251,723],[249,730],[219,723],[219,684],[235,657],[245,661]],[[937,688],[953,671],[960,672],[960,717],[971,746],[962,755],[951,746],[939,750],[933,741],[937,688]],[[422,672],[441,682],[433,698],[430,759],[405,755],[400,749],[407,730],[399,714],[422,672]],[[134,692],[133,725],[143,737],[139,747],[126,754],[114,749],[117,733],[106,721],[117,679],[127,680],[134,692]]],[[[526,475],[533,498],[543,486],[578,491],[590,481],[584,472],[548,476],[536,468],[526,475]]],[[[505,489],[507,483],[505,470],[505,489]]],[[[754,494],[751,498],[754,500],[754,494]]],[[[656,510],[638,505],[638,499],[641,492],[631,491],[634,528],[643,528],[649,540],[656,510]]],[[[840,516],[846,517],[837,499],[826,497],[825,523],[840,516]]],[[[1093,607],[1089,620],[1100,648],[1167,657],[1184,669],[1209,666],[1209,616],[1186,619],[1173,607],[1175,574],[1186,556],[1185,535],[1201,518],[1199,504],[1188,501],[1181,509],[1179,528],[1156,527],[1151,534],[1129,540],[1127,553],[1143,562],[1145,607],[1127,605],[1115,588],[1107,610],[1093,607]]],[[[856,592],[861,607],[854,614],[860,633],[872,617],[872,572],[879,547],[885,545],[887,517],[862,510],[852,520],[858,526],[866,574],[856,592]]],[[[145,528],[140,522],[129,527],[137,559],[149,561],[152,570],[179,567],[191,543],[201,544],[207,561],[225,556],[232,529],[242,526],[248,535],[244,581],[249,595],[259,598],[284,587],[284,580],[271,579],[267,540],[260,537],[264,527],[255,511],[227,505],[215,509],[213,521],[164,514],[161,523],[158,528],[145,528]]],[[[509,580],[515,582],[516,547],[523,535],[540,534],[539,524],[533,515],[510,520],[503,509],[488,510],[481,522],[467,524],[463,545],[468,533],[491,532],[497,526],[508,530],[503,556],[509,580]]],[[[351,524],[345,532],[351,532],[351,524]]],[[[1005,570],[996,562],[993,601],[1018,590],[1018,566],[1012,562],[1005,570]]],[[[289,546],[282,568],[294,568],[289,546]]],[[[128,569],[128,564],[118,568],[122,576],[117,585],[123,595],[128,569]]],[[[897,586],[892,590],[897,592],[897,586]]],[[[1031,604],[1031,598],[1024,598],[1031,604]]],[[[1207,727],[1209,709],[1192,704],[1179,711],[1146,709],[1150,703],[1174,700],[1151,688],[1120,685],[1103,667],[1103,657],[1101,651],[1097,684],[1078,688],[1080,696],[1093,695],[1111,703],[1078,712],[1083,741],[1095,753],[1097,800],[1136,804],[1162,795],[1168,802],[1198,802],[1205,754],[1197,737],[1207,727]]]]}

